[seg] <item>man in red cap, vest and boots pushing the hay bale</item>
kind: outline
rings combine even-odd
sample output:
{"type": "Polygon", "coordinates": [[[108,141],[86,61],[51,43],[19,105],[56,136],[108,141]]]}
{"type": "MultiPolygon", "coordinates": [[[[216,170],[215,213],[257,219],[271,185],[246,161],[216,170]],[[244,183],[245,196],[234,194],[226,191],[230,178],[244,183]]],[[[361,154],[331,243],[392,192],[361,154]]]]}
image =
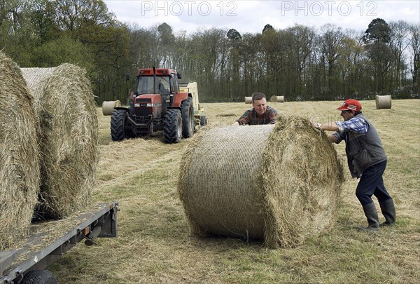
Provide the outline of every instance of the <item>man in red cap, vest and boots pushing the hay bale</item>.
{"type": "Polygon", "coordinates": [[[364,231],[377,231],[379,226],[395,224],[395,206],[393,199],[386,191],[382,175],[386,168],[386,154],[381,145],[377,130],[362,114],[362,104],[357,100],[346,100],[337,108],[344,121],[316,123],[320,130],[335,131],[328,135],[331,142],[346,142],[347,163],[352,177],[360,177],[356,196],[363,206],[367,218],[364,231]],[[385,222],[379,224],[379,217],[372,200],[376,196],[385,222]]]}

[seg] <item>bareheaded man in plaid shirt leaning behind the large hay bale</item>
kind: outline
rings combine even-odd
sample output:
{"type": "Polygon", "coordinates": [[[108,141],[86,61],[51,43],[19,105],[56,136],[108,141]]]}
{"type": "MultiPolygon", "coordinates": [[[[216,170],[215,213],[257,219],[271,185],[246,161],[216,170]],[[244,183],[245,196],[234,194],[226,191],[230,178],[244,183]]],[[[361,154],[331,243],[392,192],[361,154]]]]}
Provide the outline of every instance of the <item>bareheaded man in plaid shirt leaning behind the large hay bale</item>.
{"type": "Polygon", "coordinates": [[[277,114],[276,109],[267,106],[267,99],[263,93],[252,94],[252,109],[248,109],[242,114],[232,126],[244,126],[246,124],[255,126],[259,124],[276,123],[277,114]]]}

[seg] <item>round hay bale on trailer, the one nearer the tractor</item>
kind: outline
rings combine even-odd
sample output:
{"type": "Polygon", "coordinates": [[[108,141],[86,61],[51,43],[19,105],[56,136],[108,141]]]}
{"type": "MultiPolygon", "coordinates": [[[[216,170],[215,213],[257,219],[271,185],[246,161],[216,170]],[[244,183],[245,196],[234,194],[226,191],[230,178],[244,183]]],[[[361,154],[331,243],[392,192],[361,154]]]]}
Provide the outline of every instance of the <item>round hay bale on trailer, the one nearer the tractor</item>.
{"type": "Polygon", "coordinates": [[[41,150],[41,206],[62,218],[90,201],[97,167],[98,119],[84,69],[22,68],[35,97],[41,150]]]}

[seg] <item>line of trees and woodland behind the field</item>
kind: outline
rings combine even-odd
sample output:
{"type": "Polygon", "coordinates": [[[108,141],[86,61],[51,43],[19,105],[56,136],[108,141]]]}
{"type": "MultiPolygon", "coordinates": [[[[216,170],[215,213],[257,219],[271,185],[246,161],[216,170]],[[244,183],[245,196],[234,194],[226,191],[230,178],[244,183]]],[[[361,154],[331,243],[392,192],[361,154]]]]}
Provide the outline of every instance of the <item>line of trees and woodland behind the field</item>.
{"type": "Polygon", "coordinates": [[[84,67],[99,105],[127,102],[137,70],[153,66],[197,81],[201,102],[239,102],[255,91],[289,101],[420,94],[420,25],[404,20],[377,18],[365,31],[267,24],[260,33],[174,34],[165,22],[120,22],[102,0],[0,0],[0,50],[20,67],[84,67]]]}

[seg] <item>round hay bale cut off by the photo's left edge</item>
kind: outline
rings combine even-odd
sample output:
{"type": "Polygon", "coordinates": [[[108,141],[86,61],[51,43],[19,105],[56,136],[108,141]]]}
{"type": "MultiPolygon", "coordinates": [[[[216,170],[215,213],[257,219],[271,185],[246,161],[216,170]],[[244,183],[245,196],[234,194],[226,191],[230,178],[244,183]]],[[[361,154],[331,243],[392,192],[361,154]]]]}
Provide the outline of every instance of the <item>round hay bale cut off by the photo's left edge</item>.
{"type": "Polygon", "coordinates": [[[0,250],[27,236],[36,205],[40,174],[33,102],[20,68],[0,52],[0,250]]]}

